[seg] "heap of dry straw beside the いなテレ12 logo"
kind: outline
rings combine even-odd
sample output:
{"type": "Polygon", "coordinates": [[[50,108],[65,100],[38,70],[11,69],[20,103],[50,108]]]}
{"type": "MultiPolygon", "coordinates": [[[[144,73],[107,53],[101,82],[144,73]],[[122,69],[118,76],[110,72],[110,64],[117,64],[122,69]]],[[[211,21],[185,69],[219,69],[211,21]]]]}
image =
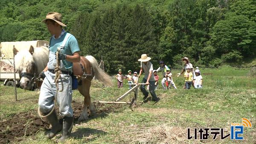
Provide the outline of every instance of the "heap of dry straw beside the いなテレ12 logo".
{"type": "Polygon", "coordinates": [[[181,127],[170,127],[169,125],[162,124],[156,127],[149,127],[143,130],[137,139],[131,141],[130,144],[174,144],[186,143],[186,130],[181,127]]]}

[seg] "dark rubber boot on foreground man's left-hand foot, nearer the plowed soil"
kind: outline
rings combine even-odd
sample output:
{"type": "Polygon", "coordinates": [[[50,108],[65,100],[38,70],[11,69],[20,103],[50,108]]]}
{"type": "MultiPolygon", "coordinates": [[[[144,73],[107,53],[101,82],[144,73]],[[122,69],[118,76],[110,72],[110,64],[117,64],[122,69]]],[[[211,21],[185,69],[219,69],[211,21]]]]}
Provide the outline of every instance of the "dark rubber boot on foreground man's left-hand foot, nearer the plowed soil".
{"type": "Polygon", "coordinates": [[[52,114],[46,117],[47,121],[52,125],[52,129],[47,133],[46,138],[53,138],[58,132],[61,132],[62,125],[58,122],[56,112],[53,111],[52,114]]]}

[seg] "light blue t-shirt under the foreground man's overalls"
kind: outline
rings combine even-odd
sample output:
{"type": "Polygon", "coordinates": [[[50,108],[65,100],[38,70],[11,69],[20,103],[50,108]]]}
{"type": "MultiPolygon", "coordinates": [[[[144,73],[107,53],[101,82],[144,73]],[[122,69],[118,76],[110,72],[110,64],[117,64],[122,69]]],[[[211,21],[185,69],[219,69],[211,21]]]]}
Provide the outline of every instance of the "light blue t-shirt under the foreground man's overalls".
{"type": "MultiPolygon", "coordinates": [[[[58,47],[61,46],[62,41],[64,40],[66,35],[67,35],[67,32],[64,32],[64,34],[61,35],[61,37],[59,37],[58,39],[51,37],[49,50],[54,53],[57,52],[58,47]]],[[[61,49],[61,52],[66,55],[73,55],[73,53],[78,52],[78,51],[80,51],[80,49],[79,49],[76,37],[74,37],[73,35],[70,35],[67,39],[64,49],[61,49]]],[[[51,60],[51,57],[49,57],[49,61],[50,60],[51,60]]],[[[62,62],[64,64],[65,69],[71,69],[73,67],[73,63],[70,61],[62,60],[62,62]]]]}

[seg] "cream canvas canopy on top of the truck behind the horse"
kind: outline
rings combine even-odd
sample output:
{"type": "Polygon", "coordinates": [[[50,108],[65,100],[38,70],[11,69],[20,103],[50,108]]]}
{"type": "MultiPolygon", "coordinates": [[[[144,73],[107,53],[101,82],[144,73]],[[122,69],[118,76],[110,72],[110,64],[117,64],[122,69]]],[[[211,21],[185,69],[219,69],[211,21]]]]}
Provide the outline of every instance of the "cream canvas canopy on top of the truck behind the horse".
{"type": "Polygon", "coordinates": [[[48,46],[49,42],[46,40],[33,40],[33,41],[15,41],[15,42],[1,42],[0,52],[1,59],[13,59],[13,46],[20,51],[23,49],[29,50],[30,46],[34,48],[40,46],[48,46]]]}

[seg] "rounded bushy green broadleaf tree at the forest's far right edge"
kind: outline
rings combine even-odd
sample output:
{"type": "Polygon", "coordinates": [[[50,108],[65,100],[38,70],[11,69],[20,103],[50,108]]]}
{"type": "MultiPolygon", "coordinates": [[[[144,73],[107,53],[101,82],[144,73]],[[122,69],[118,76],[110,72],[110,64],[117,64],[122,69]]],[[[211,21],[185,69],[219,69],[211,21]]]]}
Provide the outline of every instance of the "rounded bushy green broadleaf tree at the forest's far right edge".
{"type": "Polygon", "coordinates": [[[226,14],[226,19],[218,21],[210,35],[216,53],[227,54],[230,60],[240,54],[244,57],[255,55],[256,23],[244,15],[226,14]]]}

